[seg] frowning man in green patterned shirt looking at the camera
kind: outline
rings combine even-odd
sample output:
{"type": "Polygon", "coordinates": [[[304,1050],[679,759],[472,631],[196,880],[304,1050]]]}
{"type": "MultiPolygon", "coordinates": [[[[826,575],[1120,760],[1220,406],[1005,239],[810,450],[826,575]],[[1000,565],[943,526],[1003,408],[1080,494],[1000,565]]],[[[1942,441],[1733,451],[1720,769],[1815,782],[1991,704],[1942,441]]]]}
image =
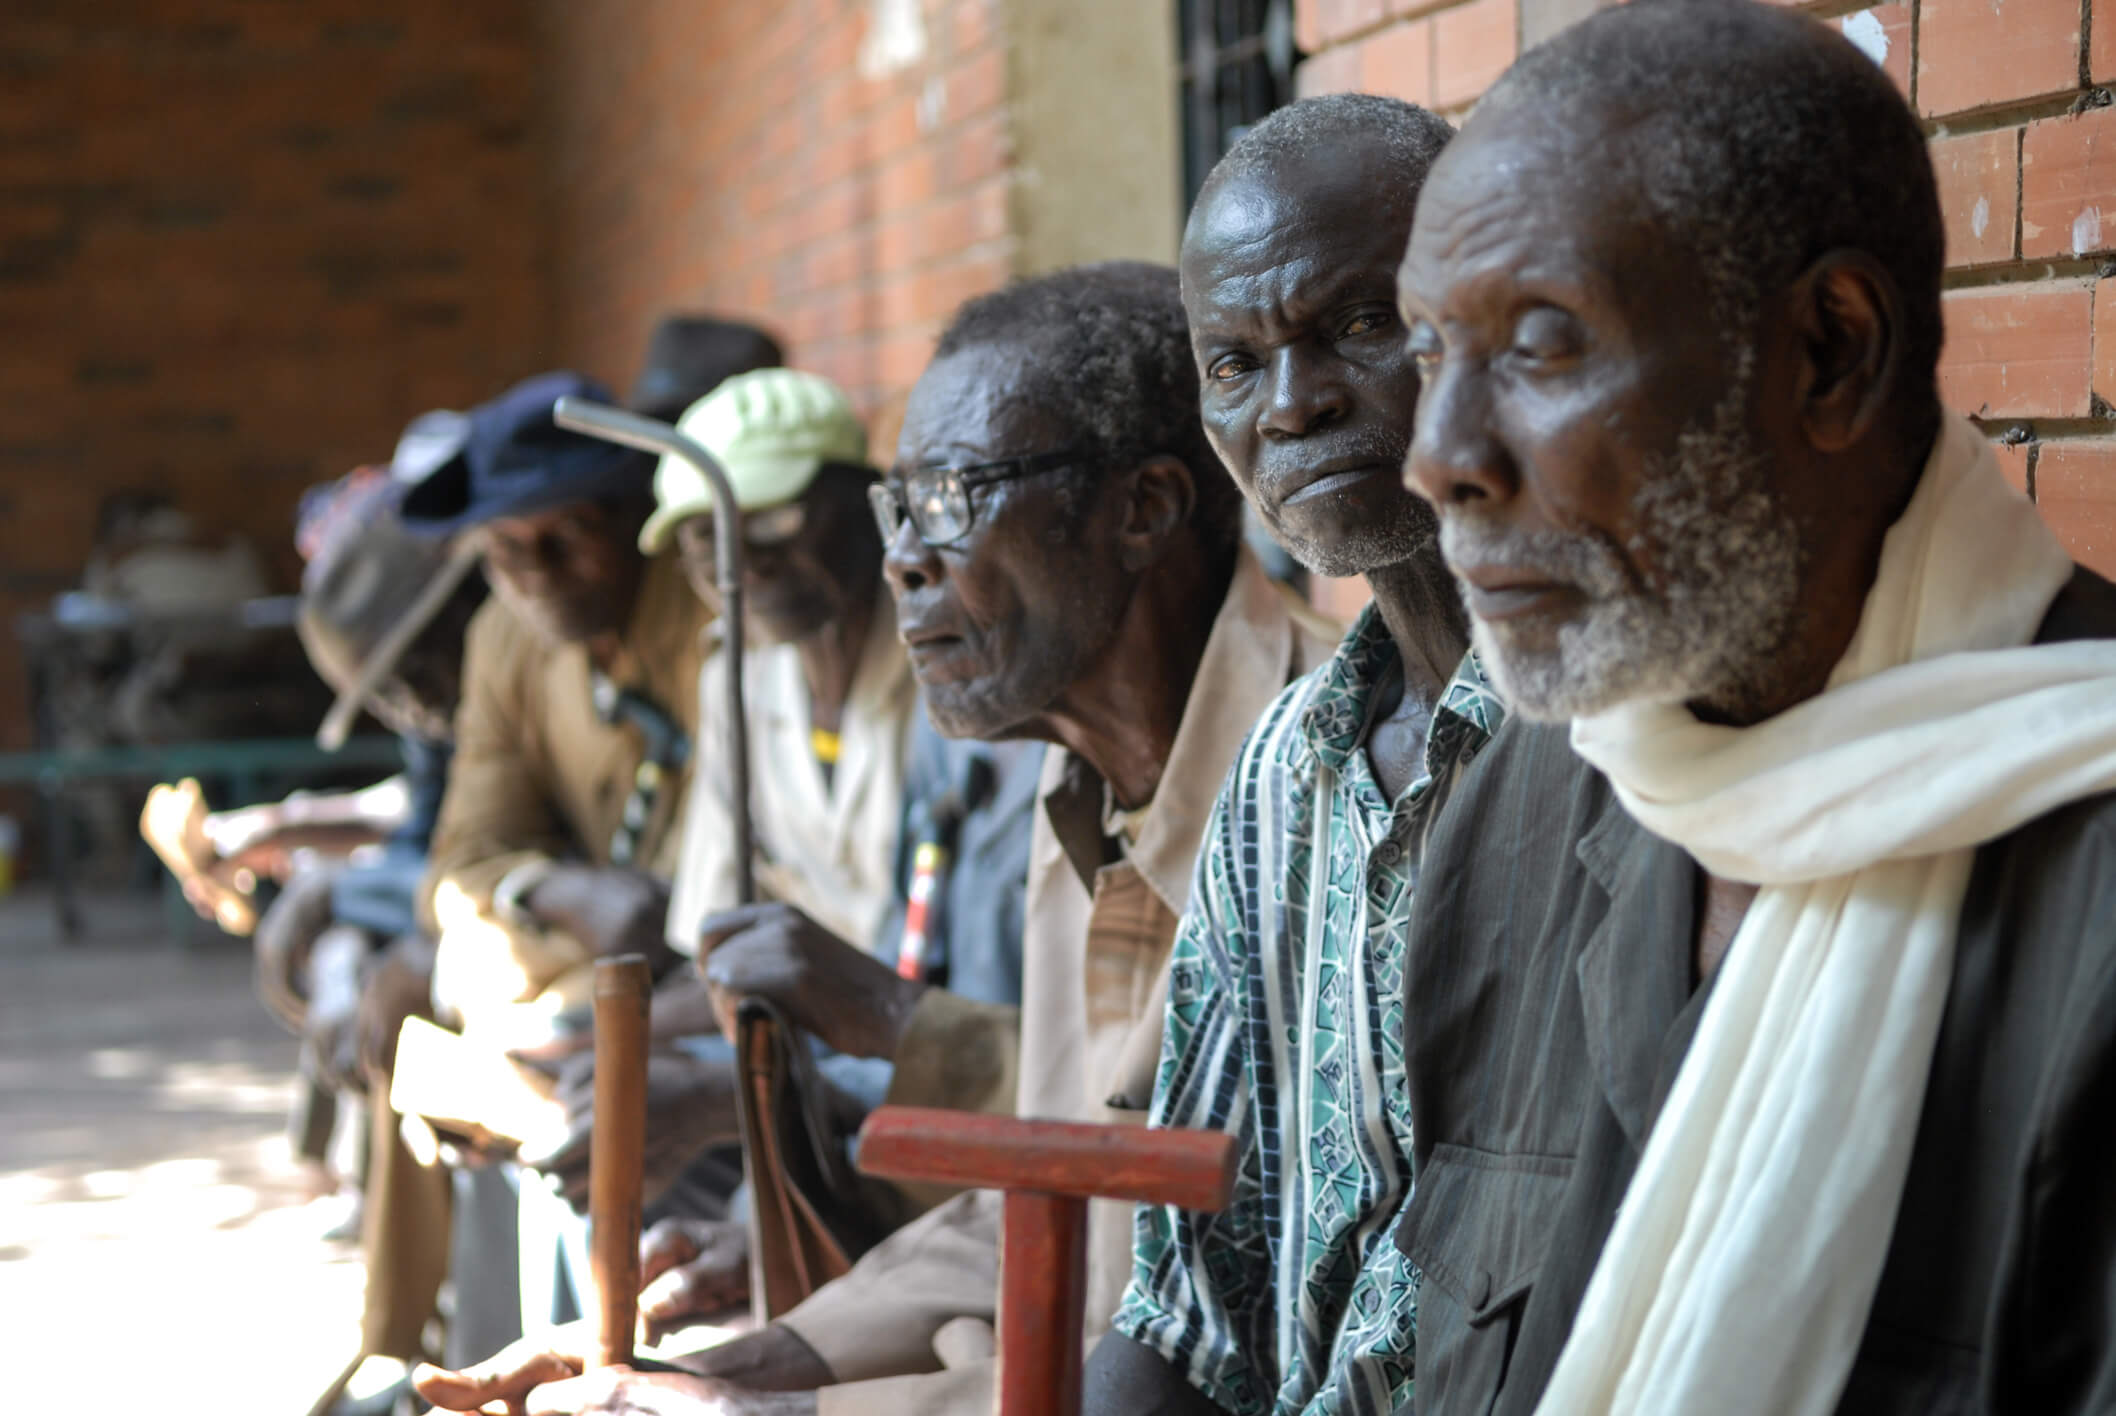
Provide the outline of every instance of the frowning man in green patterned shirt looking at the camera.
{"type": "Polygon", "coordinates": [[[1386,1414],[1411,1393],[1403,925],[1426,830],[1502,713],[1401,480],[1418,370],[1394,271],[1449,135],[1394,99],[1295,104],[1227,152],[1183,237],[1215,449],[1303,565],[1365,576],[1373,603],[1265,711],[1206,825],[1153,1124],[1234,1132],[1236,1196],[1138,1211],[1096,1416],[1386,1414]]]}

